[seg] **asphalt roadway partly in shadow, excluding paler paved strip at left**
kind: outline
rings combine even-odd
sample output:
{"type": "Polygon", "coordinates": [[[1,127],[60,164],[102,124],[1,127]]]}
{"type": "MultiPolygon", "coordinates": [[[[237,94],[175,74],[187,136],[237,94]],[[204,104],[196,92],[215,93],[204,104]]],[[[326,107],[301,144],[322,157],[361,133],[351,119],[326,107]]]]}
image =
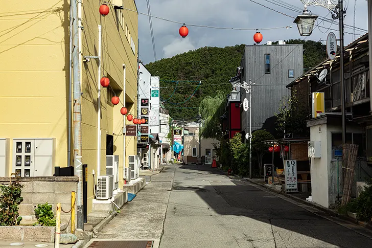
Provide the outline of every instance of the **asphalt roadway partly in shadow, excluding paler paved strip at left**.
{"type": "Polygon", "coordinates": [[[209,166],[162,173],[174,179],[160,248],[372,247],[369,231],[209,166]]]}

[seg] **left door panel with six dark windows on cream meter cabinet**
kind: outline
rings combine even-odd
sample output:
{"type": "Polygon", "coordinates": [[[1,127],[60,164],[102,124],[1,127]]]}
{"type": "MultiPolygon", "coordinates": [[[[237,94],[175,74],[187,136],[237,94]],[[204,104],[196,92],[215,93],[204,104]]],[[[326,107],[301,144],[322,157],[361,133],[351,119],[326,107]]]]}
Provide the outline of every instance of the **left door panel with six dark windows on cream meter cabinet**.
{"type": "Polygon", "coordinates": [[[35,140],[13,141],[13,173],[18,176],[34,176],[35,140]]]}

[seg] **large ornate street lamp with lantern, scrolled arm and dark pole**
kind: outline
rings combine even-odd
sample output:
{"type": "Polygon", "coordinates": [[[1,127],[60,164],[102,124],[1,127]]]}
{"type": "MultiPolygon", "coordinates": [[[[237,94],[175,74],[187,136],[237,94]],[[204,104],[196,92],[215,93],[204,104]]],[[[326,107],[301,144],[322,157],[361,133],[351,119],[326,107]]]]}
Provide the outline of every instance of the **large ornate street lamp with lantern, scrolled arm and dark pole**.
{"type": "MultiPolygon", "coordinates": [[[[342,116],[342,144],[346,144],[346,107],[345,107],[345,80],[344,80],[344,62],[343,62],[343,54],[344,54],[344,48],[343,48],[343,17],[344,17],[344,10],[343,10],[343,0],[301,0],[301,2],[304,4],[305,14],[306,7],[310,5],[314,6],[321,6],[323,8],[328,9],[332,13],[332,18],[339,20],[339,32],[340,32],[340,84],[341,84],[341,116],[342,116]]],[[[307,21],[304,22],[304,15],[299,15],[294,20],[294,22],[298,26],[298,31],[300,35],[310,35],[308,31],[313,30],[314,21],[307,21]],[[312,24],[312,25],[311,25],[312,24]],[[311,26],[311,28],[309,27],[311,26]]]]}

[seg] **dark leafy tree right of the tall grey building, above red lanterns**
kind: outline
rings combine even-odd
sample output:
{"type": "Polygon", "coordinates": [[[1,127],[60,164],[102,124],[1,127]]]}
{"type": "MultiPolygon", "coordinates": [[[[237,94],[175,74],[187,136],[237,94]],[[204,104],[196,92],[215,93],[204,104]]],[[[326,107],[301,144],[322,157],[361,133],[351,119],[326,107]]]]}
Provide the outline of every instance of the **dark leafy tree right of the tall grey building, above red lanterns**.
{"type": "Polygon", "coordinates": [[[309,107],[303,101],[298,101],[297,91],[292,90],[291,96],[284,96],[280,108],[275,113],[276,130],[281,133],[307,136],[306,121],[310,119],[309,107]]]}

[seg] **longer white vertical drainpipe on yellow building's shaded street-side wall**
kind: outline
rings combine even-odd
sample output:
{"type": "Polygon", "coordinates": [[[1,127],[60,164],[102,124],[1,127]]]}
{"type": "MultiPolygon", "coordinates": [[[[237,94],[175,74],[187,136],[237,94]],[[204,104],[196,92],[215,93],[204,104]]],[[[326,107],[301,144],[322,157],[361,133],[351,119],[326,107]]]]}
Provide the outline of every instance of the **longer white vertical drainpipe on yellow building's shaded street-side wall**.
{"type": "Polygon", "coordinates": [[[98,25],[97,176],[101,175],[101,53],[102,53],[102,27],[101,25],[98,25]]]}

